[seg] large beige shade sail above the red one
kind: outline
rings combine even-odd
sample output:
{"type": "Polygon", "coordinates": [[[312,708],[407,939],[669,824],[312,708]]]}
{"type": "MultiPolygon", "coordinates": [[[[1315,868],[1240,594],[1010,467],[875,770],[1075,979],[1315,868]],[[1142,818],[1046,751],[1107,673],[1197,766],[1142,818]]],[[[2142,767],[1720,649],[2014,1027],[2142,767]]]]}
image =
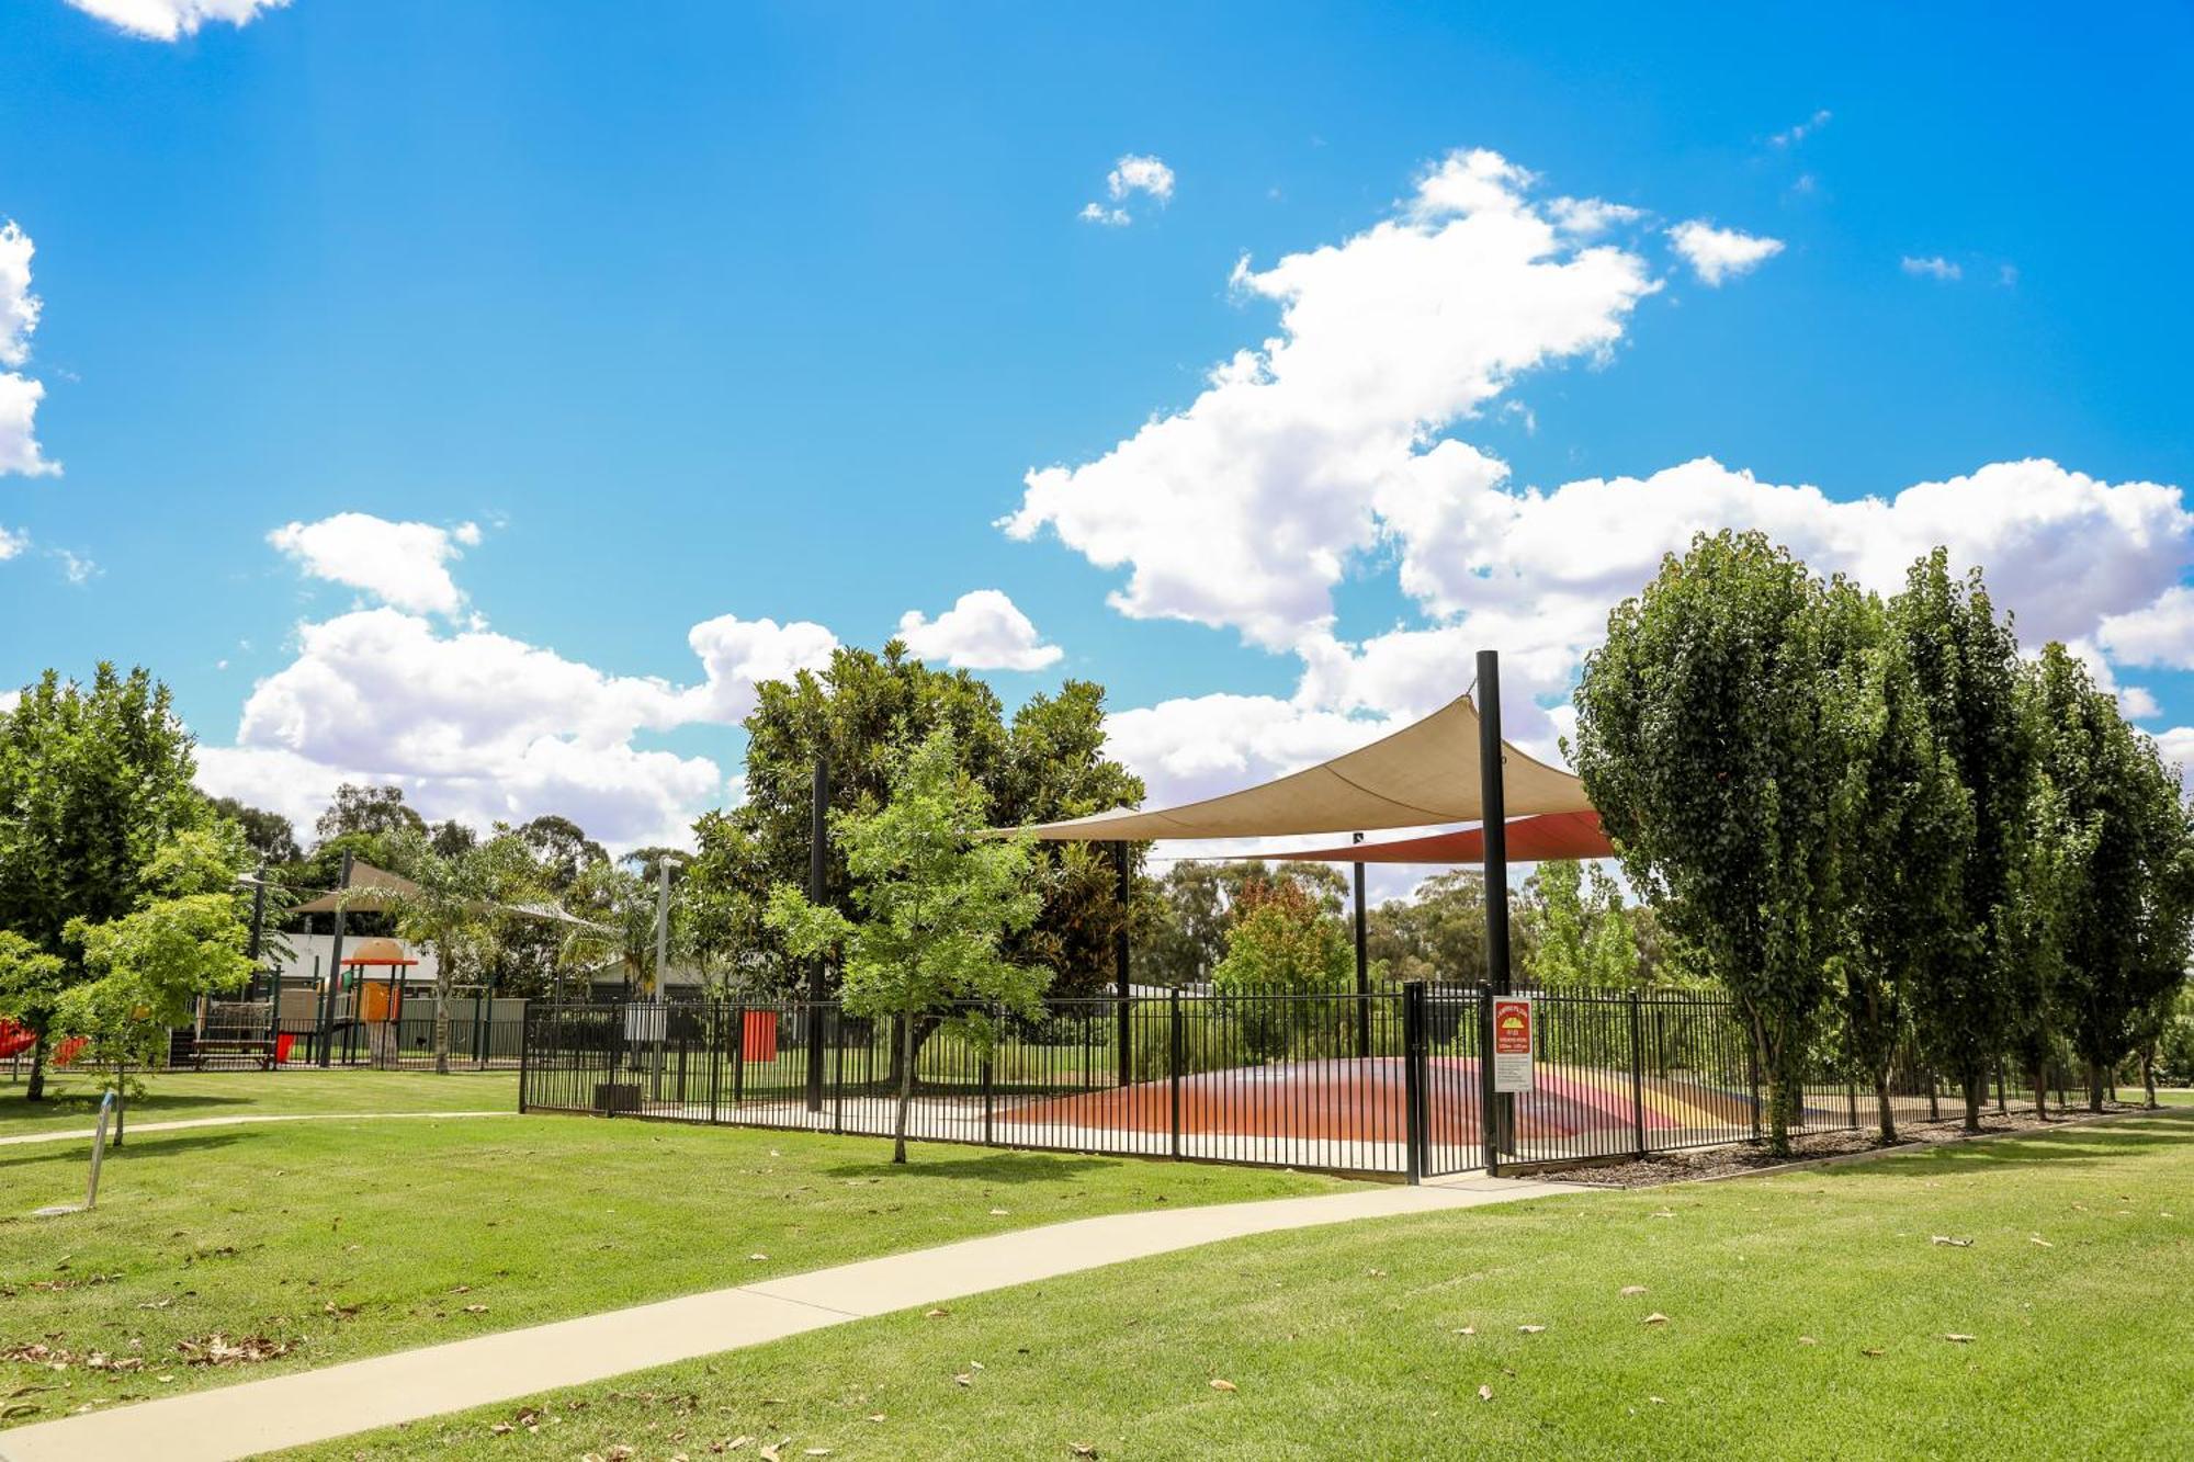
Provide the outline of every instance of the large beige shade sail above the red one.
{"type": "MultiPolygon", "coordinates": [[[[1591,812],[1584,784],[1503,742],[1509,812],[1591,812]]],[[[1042,823],[1036,836],[1062,843],[1156,839],[1262,839],[1303,832],[1367,832],[1470,823],[1479,801],[1479,711],[1468,696],[1332,762],[1262,786],[1154,812],[1099,812],[1042,823]]]]}

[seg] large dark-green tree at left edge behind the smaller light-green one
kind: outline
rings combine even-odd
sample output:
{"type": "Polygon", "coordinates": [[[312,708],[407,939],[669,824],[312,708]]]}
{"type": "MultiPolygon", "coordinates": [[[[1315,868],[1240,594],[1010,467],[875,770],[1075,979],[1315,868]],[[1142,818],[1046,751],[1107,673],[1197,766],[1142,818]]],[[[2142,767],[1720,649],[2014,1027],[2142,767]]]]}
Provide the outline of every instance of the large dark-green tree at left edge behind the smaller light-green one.
{"type": "Polygon", "coordinates": [[[0,716],[0,931],[18,935],[7,1014],[37,1038],[26,1098],[46,1095],[61,997],[97,977],[68,937],[140,907],[154,854],[211,819],[191,735],[165,685],[101,663],[90,685],[46,672],[0,716]],[[59,959],[55,970],[48,959],[59,959]]]}

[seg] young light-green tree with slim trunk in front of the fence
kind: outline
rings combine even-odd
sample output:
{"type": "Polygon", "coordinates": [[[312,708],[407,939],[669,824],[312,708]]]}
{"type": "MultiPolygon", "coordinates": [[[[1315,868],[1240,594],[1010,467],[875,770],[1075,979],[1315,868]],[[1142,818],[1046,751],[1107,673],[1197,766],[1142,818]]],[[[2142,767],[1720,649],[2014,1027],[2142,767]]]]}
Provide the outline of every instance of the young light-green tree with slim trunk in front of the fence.
{"type": "Polygon", "coordinates": [[[963,771],[948,729],[902,753],[873,812],[836,812],[853,915],[812,904],[796,885],[770,896],[768,922],[794,955],[845,959],[842,1001],[856,1016],[891,1016],[900,1032],[900,1100],[891,1161],[906,1161],[915,1095],[915,1027],[961,1032],[976,1049],[998,1034],[996,1012],[1036,1016],[1051,972],[1018,964],[1005,940],[1042,909],[1025,836],[972,839],[985,795],[963,771]]]}

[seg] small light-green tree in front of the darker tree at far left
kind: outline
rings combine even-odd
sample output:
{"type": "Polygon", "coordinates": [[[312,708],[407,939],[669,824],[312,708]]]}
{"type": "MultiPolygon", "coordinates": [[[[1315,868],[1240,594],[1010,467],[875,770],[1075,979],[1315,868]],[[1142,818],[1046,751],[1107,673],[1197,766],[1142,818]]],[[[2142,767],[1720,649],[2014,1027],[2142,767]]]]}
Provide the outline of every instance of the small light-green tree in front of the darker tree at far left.
{"type": "Polygon", "coordinates": [[[248,900],[239,896],[248,856],[235,823],[180,832],[143,869],[136,909],[103,924],[68,922],[90,979],[61,994],[55,1025],[83,1036],[83,1058],[112,1065],[121,1084],[132,1065],[167,1058],[169,1030],[202,997],[250,981],[248,900]]]}

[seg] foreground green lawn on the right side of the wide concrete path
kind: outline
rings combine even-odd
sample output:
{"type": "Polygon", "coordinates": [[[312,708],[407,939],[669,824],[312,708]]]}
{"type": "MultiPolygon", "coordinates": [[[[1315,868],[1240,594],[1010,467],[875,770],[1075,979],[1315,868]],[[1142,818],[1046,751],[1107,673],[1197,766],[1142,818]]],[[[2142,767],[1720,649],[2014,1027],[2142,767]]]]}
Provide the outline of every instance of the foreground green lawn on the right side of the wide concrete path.
{"type": "Polygon", "coordinates": [[[296,1455],[2185,1455],[2194,1113],[1275,1234],[943,1308],[296,1455]]]}

